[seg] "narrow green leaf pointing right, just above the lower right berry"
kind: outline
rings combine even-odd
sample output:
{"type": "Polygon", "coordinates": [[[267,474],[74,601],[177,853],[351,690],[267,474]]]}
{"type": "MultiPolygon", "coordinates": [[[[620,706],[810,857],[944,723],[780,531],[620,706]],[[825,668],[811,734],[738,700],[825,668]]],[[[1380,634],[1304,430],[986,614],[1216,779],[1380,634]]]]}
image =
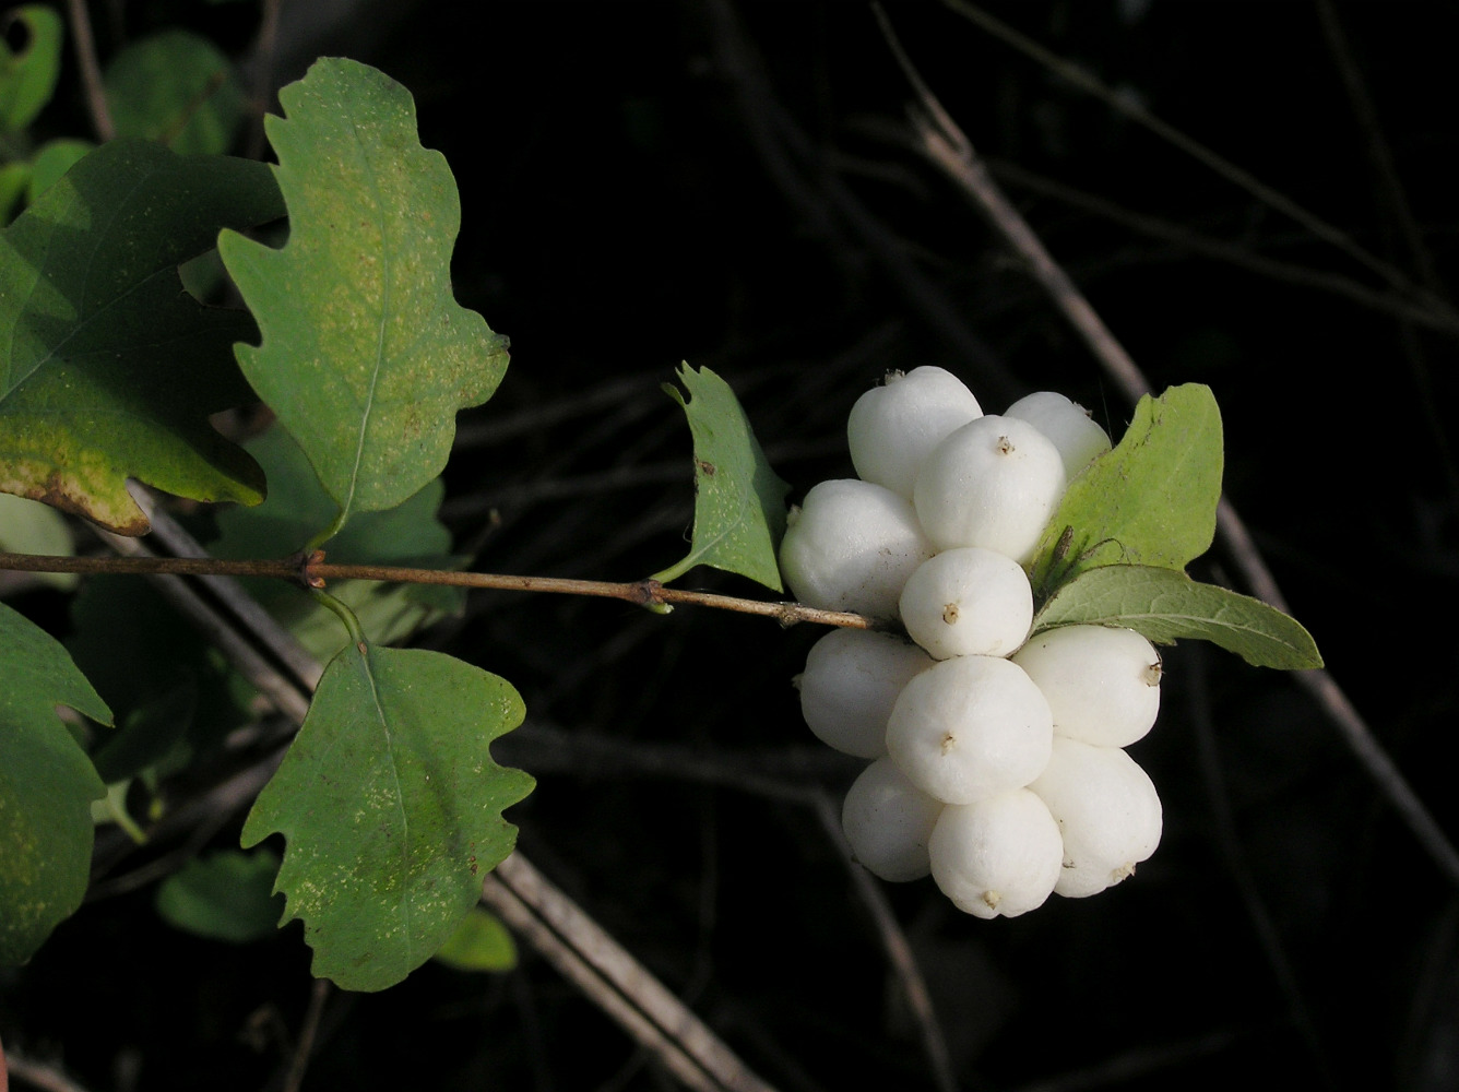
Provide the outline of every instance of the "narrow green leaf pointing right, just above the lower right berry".
{"type": "Polygon", "coordinates": [[[1316,641],[1294,618],[1173,569],[1106,566],[1081,573],[1033,620],[1034,633],[1056,625],[1121,625],[1161,644],[1195,637],[1258,668],[1322,666],[1316,641]]]}

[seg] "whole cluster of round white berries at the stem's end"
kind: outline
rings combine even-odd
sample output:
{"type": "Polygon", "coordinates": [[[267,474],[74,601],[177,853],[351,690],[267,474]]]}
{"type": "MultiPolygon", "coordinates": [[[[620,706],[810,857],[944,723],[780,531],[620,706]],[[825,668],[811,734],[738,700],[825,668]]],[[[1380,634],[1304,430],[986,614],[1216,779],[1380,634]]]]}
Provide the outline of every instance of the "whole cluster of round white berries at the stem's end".
{"type": "Polygon", "coordinates": [[[985,416],[940,367],[887,376],[848,423],[859,478],[805,496],[781,547],[805,604],[900,621],[839,628],[800,676],[811,730],[872,760],[846,795],[856,859],[1014,917],[1093,895],[1160,841],[1154,784],[1122,749],[1154,725],[1160,656],[1132,630],[1029,639],[1024,573],[1067,483],[1109,451],[1068,398],[985,416]]]}

